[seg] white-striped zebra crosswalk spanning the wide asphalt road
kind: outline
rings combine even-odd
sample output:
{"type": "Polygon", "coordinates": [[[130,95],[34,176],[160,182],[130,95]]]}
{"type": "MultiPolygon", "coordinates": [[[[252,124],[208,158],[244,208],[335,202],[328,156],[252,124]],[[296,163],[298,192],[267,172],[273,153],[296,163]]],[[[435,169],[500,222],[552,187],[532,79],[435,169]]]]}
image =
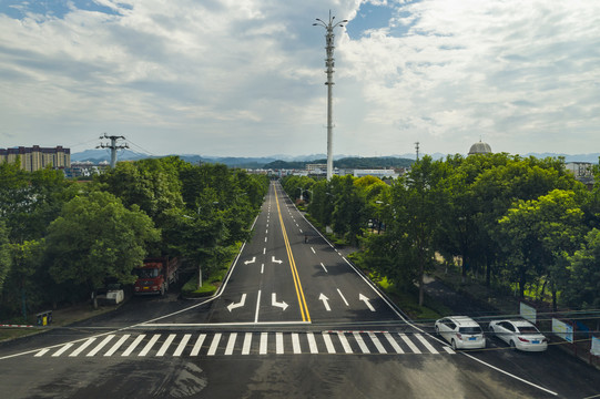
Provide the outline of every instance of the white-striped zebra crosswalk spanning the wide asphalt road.
{"type": "Polygon", "coordinates": [[[110,334],[43,348],[34,357],[454,355],[421,334],[391,331],[110,334]]]}

